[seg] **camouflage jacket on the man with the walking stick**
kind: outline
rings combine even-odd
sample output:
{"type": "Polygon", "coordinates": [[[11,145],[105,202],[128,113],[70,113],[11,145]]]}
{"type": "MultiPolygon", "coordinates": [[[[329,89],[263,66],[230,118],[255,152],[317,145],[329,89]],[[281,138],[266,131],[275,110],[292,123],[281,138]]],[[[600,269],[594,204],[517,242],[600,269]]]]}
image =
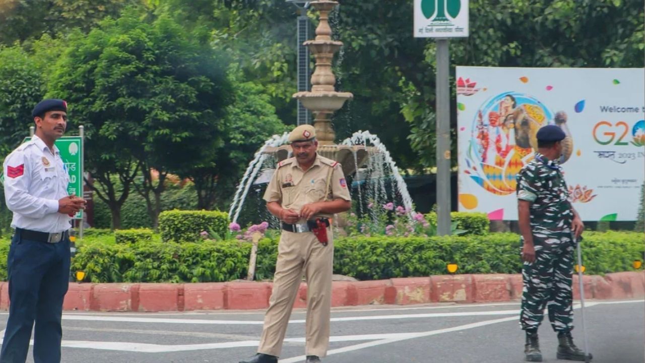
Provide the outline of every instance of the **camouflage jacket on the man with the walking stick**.
{"type": "Polygon", "coordinates": [[[530,222],[535,244],[549,236],[571,237],[573,211],[557,162],[536,153],[535,158],[517,173],[517,198],[531,202],[530,222]]]}

